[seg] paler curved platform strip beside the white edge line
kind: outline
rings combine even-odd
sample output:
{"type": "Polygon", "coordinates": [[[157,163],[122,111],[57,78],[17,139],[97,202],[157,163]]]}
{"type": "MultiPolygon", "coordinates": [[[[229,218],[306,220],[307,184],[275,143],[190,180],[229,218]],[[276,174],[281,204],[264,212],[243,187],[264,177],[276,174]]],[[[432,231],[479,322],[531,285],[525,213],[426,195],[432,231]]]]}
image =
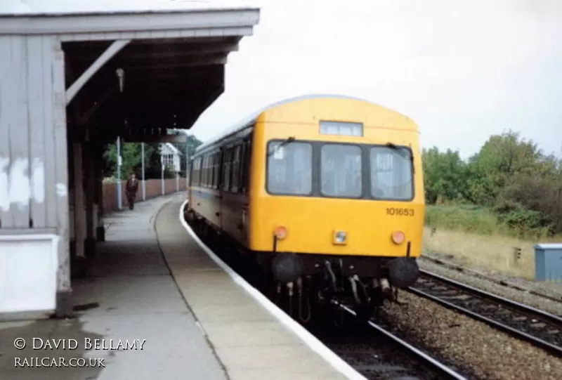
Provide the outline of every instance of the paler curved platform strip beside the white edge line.
{"type": "Polygon", "coordinates": [[[181,203],[162,208],[156,220],[158,241],[229,378],[346,379],[217,266],[176,222],[181,203]]]}

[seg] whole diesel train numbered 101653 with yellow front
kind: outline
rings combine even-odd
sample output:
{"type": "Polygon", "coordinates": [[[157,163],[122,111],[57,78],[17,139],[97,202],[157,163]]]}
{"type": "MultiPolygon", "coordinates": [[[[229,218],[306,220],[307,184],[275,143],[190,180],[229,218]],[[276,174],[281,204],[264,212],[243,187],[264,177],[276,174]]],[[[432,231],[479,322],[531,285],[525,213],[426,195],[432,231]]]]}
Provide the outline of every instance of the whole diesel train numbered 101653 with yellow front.
{"type": "Polygon", "coordinates": [[[372,313],[419,276],[423,186],[410,118],[303,96],[197,148],[185,216],[251,258],[279,294],[298,296],[301,320],[332,299],[372,313]]]}

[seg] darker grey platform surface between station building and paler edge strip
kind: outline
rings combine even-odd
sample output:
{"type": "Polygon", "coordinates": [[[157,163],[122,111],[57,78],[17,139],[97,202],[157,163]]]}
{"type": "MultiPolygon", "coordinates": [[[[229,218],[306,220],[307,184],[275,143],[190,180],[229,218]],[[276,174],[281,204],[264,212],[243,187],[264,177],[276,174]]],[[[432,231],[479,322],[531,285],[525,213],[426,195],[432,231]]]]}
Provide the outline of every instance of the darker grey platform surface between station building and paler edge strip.
{"type": "MultiPolygon", "coordinates": [[[[72,283],[75,308],[86,310],[70,320],[1,323],[0,379],[226,380],[221,363],[169,273],[153,227],[162,205],[177,204],[183,197],[180,193],[151,199],[136,204],[133,211],[106,217],[106,242],[98,246],[93,277],[72,283]],[[25,349],[15,349],[18,338],[27,342],[25,349]],[[36,346],[41,345],[37,338],[43,340],[43,346],[47,339],[75,339],[77,349],[34,350],[34,338],[36,346]],[[92,343],[104,339],[106,348],[120,348],[119,339],[140,342],[127,350],[86,350],[86,338],[92,343]],[[39,358],[39,363],[32,358],[39,358]],[[57,364],[49,368],[27,365],[41,365],[42,358],[55,358],[57,364]],[[66,365],[93,367],[60,367],[59,358],[65,358],[66,365]],[[71,358],[93,360],[70,362],[71,358]]],[[[50,365],[50,360],[43,363],[50,365]]]]}

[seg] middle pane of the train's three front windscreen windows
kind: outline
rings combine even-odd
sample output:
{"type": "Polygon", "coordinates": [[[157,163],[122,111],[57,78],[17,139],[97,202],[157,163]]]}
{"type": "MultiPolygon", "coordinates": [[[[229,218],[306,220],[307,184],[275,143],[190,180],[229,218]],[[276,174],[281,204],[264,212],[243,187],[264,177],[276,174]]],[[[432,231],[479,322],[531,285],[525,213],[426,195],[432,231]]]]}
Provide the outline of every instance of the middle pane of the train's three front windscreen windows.
{"type": "Polygon", "coordinates": [[[320,191],[328,197],[362,195],[361,148],[325,144],[320,153],[320,191]]]}

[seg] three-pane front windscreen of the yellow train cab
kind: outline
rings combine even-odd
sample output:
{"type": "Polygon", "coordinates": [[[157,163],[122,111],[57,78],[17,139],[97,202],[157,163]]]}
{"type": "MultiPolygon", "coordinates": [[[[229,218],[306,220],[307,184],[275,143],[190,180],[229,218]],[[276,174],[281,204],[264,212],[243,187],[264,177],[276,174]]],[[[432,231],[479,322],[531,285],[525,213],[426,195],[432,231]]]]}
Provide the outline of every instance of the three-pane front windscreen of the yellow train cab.
{"type": "Polygon", "coordinates": [[[411,150],[396,145],[363,147],[271,141],[268,144],[267,190],[271,195],[411,200],[414,197],[411,150]],[[317,149],[320,159],[313,162],[313,150],[317,149]],[[363,159],[363,155],[368,157],[363,159]],[[318,173],[318,188],[313,186],[313,172],[318,173]],[[364,189],[365,186],[370,189],[364,189]]]}

